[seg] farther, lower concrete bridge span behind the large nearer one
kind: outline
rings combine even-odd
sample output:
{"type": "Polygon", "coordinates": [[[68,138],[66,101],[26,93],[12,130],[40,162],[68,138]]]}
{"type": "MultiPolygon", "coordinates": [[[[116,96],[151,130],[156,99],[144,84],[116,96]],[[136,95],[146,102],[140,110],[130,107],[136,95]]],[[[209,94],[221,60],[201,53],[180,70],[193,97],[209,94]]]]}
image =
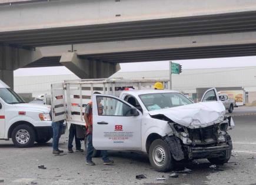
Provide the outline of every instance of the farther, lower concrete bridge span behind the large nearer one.
{"type": "Polygon", "coordinates": [[[39,48],[46,57],[25,67],[59,66],[60,56],[71,48],[81,59],[107,63],[253,56],[256,32],[48,46],[39,48]]]}

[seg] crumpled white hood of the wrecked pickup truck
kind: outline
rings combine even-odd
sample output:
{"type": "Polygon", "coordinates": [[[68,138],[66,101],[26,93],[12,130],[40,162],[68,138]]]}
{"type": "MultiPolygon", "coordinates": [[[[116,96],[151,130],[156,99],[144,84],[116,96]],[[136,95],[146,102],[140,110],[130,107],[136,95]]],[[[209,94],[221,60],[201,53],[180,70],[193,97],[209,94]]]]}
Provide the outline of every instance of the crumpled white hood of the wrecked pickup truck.
{"type": "Polygon", "coordinates": [[[168,109],[152,110],[149,115],[164,115],[185,127],[199,128],[222,122],[225,107],[222,102],[200,102],[168,109]]]}

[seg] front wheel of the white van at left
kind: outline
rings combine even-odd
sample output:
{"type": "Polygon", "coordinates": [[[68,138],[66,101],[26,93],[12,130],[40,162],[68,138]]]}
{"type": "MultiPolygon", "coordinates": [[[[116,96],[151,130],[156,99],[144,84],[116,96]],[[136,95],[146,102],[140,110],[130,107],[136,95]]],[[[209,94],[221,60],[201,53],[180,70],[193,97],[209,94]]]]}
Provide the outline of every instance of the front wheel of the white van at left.
{"type": "Polygon", "coordinates": [[[35,130],[28,125],[18,125],[12,130],[12,142],[19,148],[32,147],[35,143],[35,130]]]}

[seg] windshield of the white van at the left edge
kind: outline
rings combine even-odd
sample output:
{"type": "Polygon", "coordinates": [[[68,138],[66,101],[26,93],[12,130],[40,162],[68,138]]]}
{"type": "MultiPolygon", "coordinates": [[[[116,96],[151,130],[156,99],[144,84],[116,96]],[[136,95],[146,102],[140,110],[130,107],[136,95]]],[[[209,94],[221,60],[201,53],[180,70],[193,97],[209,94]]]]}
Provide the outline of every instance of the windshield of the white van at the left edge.
{"type": "Polygon", "coordinates": [[[24,100],[10,88],[0,88],[0,97],[9,104],[25,103],[24,100]]]}

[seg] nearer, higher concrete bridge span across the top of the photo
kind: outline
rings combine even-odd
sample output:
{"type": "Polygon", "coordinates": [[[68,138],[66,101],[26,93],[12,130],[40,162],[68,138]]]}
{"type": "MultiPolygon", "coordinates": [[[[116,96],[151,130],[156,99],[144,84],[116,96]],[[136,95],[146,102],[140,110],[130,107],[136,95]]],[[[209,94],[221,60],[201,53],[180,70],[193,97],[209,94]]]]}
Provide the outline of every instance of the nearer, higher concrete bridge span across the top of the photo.
{"type": "Polygon", "coordinates": [[[256,31],[255,12],[249,0],[41,1],[0,6],[0,43],[36,47],[256,31]]]}

